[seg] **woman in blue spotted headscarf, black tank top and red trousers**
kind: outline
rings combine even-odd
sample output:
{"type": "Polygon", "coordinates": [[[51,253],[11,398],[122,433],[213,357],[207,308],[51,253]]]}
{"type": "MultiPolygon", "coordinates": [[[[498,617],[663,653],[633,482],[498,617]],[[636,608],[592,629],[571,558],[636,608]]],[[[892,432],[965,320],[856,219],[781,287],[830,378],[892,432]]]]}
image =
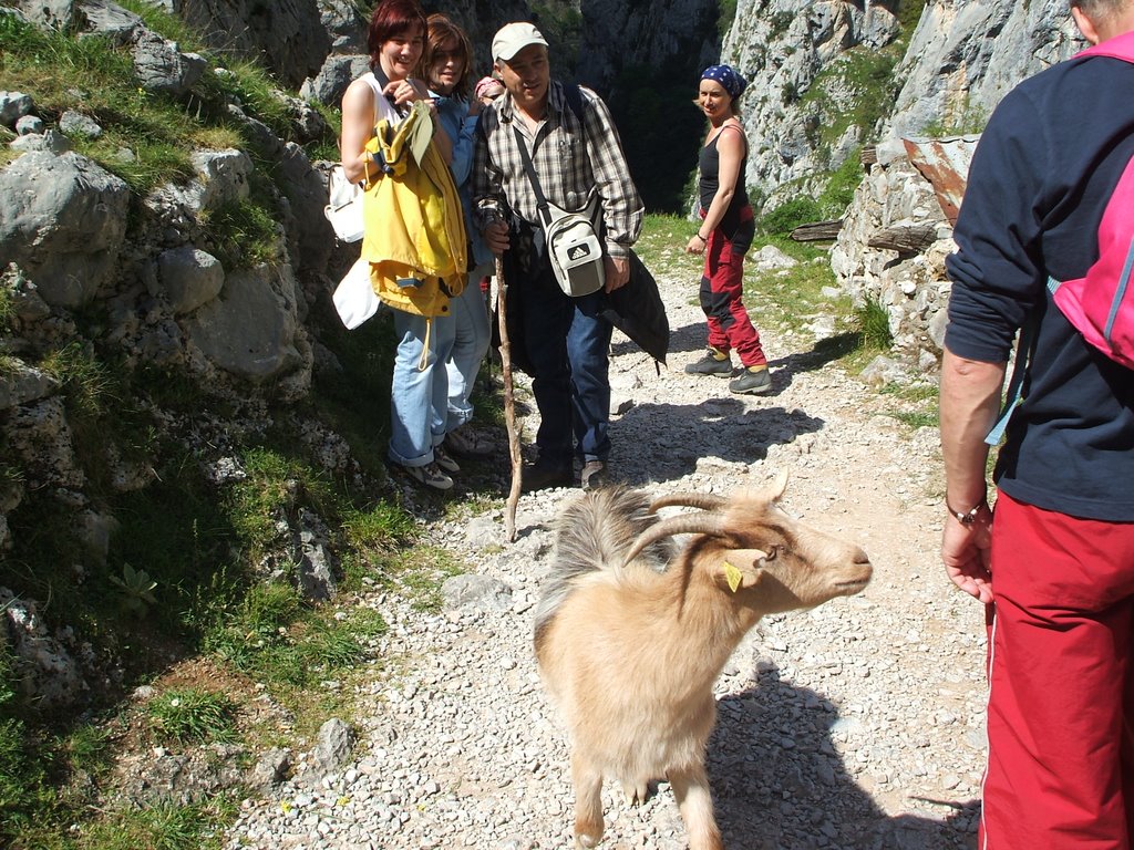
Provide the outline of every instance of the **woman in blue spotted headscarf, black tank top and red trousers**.
{"type": "Polygon", "coordinates": [[[755,233],[744,185],[748,143],[736,103],[747,85],[734,68],[713,65],[701,75],[694,101],[709,119],[709,135],[700,161],[701,227],[685,250],[705,257],[701,308],[709,323],[709,350],[685,371],[731,377],[735,349],[743,372],[729,382],[729,391],[765,393],[772,389],[768,358],[743,300],[744,254],[755,233]]]}

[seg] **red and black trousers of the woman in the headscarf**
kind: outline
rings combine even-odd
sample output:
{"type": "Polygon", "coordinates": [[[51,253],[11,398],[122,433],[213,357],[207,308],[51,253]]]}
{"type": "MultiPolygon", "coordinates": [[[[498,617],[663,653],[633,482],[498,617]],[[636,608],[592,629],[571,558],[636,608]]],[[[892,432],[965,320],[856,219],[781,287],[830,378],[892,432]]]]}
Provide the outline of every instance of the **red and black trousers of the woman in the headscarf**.
{"type": "Polygon", "coordinates": [[[709,321],[710,346],[726,354],[736,349],[743,366],[768,363],[760,334],[744,307],[744,254],[733,254],[733,243],[720,228],[713,229],[705,244],[701,309],[709,321]]]}

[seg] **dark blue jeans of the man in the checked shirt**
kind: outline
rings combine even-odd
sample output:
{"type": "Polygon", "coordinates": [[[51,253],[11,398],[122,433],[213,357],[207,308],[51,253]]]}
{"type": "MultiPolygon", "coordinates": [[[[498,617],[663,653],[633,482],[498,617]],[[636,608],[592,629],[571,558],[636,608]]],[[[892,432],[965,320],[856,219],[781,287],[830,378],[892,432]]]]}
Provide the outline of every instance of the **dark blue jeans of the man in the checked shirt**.
{"type": "Polygon", "coordinates": [[[602,292],[564,295],[545,265],[517,281],[524,342],[535,369],[532,391],[540,409],[535,444],[540,461],[570,468],[610,454],[610,335],[613,325],[599,315],[602,292]]]}

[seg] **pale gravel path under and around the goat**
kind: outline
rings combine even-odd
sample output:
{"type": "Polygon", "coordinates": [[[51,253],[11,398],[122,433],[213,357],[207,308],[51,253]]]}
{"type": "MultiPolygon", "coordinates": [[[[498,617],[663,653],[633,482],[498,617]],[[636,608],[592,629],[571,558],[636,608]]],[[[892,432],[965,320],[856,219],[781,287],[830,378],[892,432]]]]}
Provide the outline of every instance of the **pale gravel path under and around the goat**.
{"type": "MultiPolygon", "coordinates": [[[[703,316],[687,280],[659,282],[674,329],[668,368],[658,376],[616,333],[618,476],[654,493],[728,493],[786,468],[784,507],[854,538],[874,563],[862,595],[762,621],[719,680],[709,773],[726,845],[975,847],[983,615],[938,562],[937,431],[886,415],[902,402],[824,363],[810,334],[765,331],[771,396],[733,397],[725,381],[685,375],[703,316]]],[[[527,434],[534,426],[532,416],[527,434]]],[[[513,544],[502,510],[429,530],[476,587],[441,615],[369,600],[391,623],[383,656],[403,665],[363,686],[366,711],[344,719],[359,736],[354,754],[325,776],[301,760],[301,779],[245,802],[227,847],[570,845],[567,749],[531,619],[550,522],[574,493],[523,496],[513,544]]],[[[637,808],[610,783],[603,799],[602,847],[685,847],[668,784],[637,808]]]]}

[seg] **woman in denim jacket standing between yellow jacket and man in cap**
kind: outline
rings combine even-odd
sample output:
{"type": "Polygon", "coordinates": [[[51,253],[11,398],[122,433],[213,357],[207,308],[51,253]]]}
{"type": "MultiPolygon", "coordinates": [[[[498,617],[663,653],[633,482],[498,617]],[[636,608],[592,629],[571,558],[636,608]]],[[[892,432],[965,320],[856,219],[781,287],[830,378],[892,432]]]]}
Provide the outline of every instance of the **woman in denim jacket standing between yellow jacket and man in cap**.
{"type": "Polygon", "coordinates": [[[465,231],[472,238],[473,267],[468,272],[465,291],[454,298],[450,305],[456,323],[456,339],[447,364],[449,415],[445,448],[458,457],[486,458],[493,452],[492,445],[471,427],[465,427],[473,418],[473,384],[490,340],[488,305],[480,280],[491,273],[492,253],[484,245],[480,231],[471,226],[472,186],[468,180],[473,165],[473,139],[482,103],[475,97],[469,101],[473,49],[468,36],[445,15],[430,15],[428,23],[423,66],[441,128],[452,144],[449,169],[460,192],[465,231]]]}

